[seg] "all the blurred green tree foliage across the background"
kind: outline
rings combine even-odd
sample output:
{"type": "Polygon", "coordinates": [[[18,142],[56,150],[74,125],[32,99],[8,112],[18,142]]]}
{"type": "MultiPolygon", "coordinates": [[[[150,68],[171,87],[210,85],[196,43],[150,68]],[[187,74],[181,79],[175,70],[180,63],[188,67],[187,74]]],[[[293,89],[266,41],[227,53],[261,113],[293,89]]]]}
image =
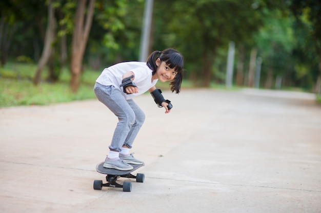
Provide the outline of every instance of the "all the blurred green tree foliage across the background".
{"type": "MultiPolygon", "coordinates": [[[[2,64],[7,59],[37,63],[44,46],[47,2],[0,1],[0,29],[8,29],[0,30],[2,64]]],[[[77,1],[53,2],[59,23],[53,70],[59,84],[64,81],[71,61],[77,1]],[[68,59],[60,72],[63,36],[68,59]]],[[[120,61],[137,60],[143,11],[143,0],[96,0],[84,65],[100,71],[120,61]]],[[[178,49],[185,57],[185,77],[196,82],[193,85],[210,86],[225,82],[228,43],[234,41],[235,68],[240,47],[244,47],[245,73],[252,48],[257,48],[257,57],[263,58],[260,85],[274,83],[277,77],[282,77],[283,88],[301,87],[311,91],[320,76],[320,12],[321,3],[310,0],[154,1],[150,51],[178,49]]],[[[87,72],[84,69],[82,75],[87,72]]],[[[23,76],[10,70],[5,73],[11,78],[23,76]]],[[[245,82],[246,75],[243,78],[245,82]]]]}

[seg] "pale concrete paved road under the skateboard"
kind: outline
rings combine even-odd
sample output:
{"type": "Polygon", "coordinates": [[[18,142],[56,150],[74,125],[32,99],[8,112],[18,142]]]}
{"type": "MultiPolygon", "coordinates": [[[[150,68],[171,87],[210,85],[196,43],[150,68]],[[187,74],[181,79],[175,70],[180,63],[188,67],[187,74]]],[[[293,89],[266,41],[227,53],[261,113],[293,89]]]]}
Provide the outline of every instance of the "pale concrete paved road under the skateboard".
{"type": "Polygon", "coordinates": [[[96,100],[0,109],[0,212],[321,212],[321,107],[312,94],[164,92],[136,98],[145,161],[132,192],[93,190],[115,116],[96,100]]]}

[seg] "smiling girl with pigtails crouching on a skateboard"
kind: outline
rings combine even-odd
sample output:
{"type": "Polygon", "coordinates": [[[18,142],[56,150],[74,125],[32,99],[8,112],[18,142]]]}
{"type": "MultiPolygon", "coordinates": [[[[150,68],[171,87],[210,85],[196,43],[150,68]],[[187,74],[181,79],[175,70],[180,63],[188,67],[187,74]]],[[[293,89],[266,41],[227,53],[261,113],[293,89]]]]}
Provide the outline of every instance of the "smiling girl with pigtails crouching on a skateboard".
{"type": "Polygon", "coordinates": [[[94,92],[97,99],[105,104],[117,117],[105,168],[122,171],[132,170],[130,164],[143,164],[129,151],[142,127],[145,114],[132,100],[149,91],[158,107],[169,113],[172,104],[165,100],[162,91],[156,89],[157,80],[169,81],[171,91],[179,93],[183,80],[183,56],[174,49],[154,51],[145,62],[122,62],[105,68],[97,78],[94,92]]]}

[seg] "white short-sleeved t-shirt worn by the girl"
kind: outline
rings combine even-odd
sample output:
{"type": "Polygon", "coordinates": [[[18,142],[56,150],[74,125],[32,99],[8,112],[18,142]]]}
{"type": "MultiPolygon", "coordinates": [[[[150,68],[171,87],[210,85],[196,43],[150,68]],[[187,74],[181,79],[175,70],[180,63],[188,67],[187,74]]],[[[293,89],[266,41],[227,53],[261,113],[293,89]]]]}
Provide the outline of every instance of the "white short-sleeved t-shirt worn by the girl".
{"type": "Polygon", "coordinates": [[[128,99],[132,99],[139,94],[143,94],[152,86],[155,86],[157,79],[152,81],[152,70],[146,65],[146,62],[122,62],[107,67],[103,70],[102,74],[97,78],[97,83],[109,86],[113,85],[116,88],[119,88],[124,97],[128,99]],[[119,87],[122,84],[123,74],[127,72],[133,72],[135,75],[134,83],[138,88],[138,93],[126,94],[123,91],[123,87],[119,87]]]}

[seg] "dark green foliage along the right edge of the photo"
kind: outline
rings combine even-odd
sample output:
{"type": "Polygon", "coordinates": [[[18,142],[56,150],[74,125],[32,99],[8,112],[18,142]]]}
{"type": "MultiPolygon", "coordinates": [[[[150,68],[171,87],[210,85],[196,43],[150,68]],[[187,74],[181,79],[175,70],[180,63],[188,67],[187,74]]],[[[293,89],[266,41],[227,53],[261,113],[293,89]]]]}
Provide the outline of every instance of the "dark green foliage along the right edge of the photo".
{"type": "Polygon", "coordinates": [[[293,56],[298,60],[297,73],[305,72],[304,86],[311,87],[317,79],[315,92],[321,93],[321,2],[292,0],[290,10],[296,18],[294,28],[300,33],[293,56]]]}

